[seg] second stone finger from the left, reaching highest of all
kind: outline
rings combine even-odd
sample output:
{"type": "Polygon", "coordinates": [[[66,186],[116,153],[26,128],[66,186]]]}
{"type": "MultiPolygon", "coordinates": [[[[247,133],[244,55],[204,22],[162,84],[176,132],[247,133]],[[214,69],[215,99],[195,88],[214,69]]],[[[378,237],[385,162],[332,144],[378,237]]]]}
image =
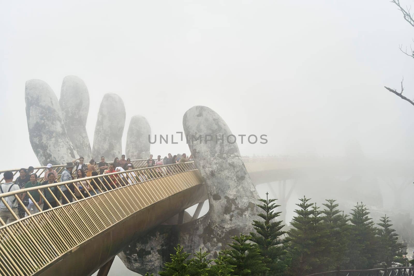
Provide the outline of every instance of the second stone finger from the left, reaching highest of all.
{"type": "Polygon", "coordinates": [[[89,92],[83,80],[76,76],[66,76],[62,82],[59,103],[67,136],[77,153],[89,162],[92,158],[91,144],[86,132],[89,92]]]}

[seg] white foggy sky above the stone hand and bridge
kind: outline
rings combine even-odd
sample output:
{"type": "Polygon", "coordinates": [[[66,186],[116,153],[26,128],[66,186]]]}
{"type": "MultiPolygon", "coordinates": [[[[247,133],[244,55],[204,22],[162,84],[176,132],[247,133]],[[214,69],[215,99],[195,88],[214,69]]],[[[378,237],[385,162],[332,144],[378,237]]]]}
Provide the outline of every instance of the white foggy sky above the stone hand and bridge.
{"type": "MultiPolygon", "coordinates": [[[[403,0],[402,0],[403,1],[403,0]]],[[[412,1],[407,0],[407,4],[412,1]]],[[[372,158],[412,158],[412,27],[388,0],[0,2],[0,167],[39,165],[26,124],[24,84],[42,79],[59,98],[63,77],[89,89],[93,142],[103,94],[125,102],[153,134],[182,131],[205,105],[233,134],[267,134],[241,154],[344,154],[358,141],[372,158]]],[[[153,145],[154,155],[189,152],[153,145]]]]}

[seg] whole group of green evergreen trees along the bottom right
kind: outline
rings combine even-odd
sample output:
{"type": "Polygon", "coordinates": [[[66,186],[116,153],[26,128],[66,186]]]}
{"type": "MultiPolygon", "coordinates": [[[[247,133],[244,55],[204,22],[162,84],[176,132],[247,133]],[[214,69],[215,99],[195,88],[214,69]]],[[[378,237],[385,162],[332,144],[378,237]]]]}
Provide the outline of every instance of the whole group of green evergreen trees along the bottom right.
{"type": "MultiPolygon", "coordinates": [[[[221,250],[214,260],[209,253],[200,251],[188,259],[189,253],[181,245],[174,247],[171,262],[166,262],[159,272],[161,276],[263,276],[306,275],[335,269],[371,269],[388,266],[392,262],[404,263],[402,244],[397,242],[397,233],[391,228],[385,215],[380,228],[375,228],[369,211],[362,202],[352,209],[351,216],[338,209],[334,199],[327,199],[325,209],[310,203],[305,196],[296,204],[296,216],[287,233],[289,241],[281,238],[282,221],[277,221],[280,212],[275,199],[260,199],[257,205],[263,211],[261,220],[253,221],[255,229],[251,235],[231,237],[230,248],[221,250]],[[350,223],[349,223],[350,222],[350,223]],[[252,241],[252,242],[250,242],[252,241]],[[253,243],[254,242],[254,243],[253,243]],[[287,268],[286,268],[287,266],[287,268]]],[[[413,264],[414,261],[411,263],[413,264]]],[[[149,273],[145,276],[152,276],[149,273]]]]}

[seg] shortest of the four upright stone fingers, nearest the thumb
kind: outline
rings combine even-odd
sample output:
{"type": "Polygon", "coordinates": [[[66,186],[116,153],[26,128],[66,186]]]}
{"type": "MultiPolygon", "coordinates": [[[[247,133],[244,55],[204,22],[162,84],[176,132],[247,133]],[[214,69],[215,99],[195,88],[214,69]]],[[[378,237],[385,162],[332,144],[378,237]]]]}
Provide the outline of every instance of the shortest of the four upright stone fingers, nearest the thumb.
{"type": "Polygon", "coordinates": [[[128,127],[125,154],[131,159],[144,159],[149,157],[148,135],[151,135],[151,127],[147,119],[140,115],[132,116],[128,127]]]}

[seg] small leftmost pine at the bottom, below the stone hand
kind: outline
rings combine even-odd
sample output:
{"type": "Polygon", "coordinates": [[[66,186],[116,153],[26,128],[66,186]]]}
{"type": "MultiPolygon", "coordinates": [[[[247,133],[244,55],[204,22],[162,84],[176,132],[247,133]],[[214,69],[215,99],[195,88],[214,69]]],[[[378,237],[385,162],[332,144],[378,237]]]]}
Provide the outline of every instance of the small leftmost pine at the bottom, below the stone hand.
{"type": "Polygon", "coordinates": [[[180,244],[174,247],[176,254],[170,254],[171,262],[166,262],[163,267],[163,271],[158,272],[161,276],[188,276],[188,265],[192,260],[188,260],[190,256],[187,252],[182,252],[184,247],[180,244]]]}

